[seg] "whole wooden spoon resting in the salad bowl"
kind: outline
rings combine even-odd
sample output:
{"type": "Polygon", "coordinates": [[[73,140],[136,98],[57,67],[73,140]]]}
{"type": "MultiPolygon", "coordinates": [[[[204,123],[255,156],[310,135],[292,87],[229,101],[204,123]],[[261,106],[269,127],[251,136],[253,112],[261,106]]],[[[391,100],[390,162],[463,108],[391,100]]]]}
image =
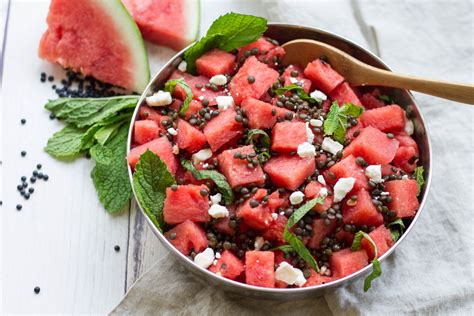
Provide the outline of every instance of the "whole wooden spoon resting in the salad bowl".
{"type": "Polygon", "coordinates": [[[287,42],[283,48],[286,51],[283,64],[305,66],[325,56],[332,68],[339,72],[351,86],[370,85],[415,90],[453,101],[474,104],[474,85],[394,74],[364,64],[334,46],[309,39],[287,42]]]}

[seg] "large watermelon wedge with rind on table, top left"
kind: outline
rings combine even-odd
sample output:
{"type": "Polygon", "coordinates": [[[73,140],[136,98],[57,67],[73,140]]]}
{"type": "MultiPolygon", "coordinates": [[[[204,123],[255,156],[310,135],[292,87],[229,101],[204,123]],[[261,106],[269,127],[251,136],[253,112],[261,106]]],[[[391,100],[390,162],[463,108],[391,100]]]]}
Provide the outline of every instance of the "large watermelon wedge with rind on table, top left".
{"type": "Polygon", "coordinates": [[[145,45],[120,0],[53,0],[47,23],[41,58],[131,91],[145,89],[145,45]]]}

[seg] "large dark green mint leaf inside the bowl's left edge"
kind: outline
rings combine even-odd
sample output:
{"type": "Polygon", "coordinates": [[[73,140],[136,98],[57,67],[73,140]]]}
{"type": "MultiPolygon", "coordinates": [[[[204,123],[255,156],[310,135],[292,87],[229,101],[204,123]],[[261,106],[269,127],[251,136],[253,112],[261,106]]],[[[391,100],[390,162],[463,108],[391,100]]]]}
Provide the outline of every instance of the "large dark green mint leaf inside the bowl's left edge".
{"type": "Polygon", "coordinates": [[[133,184],[140,206],[156,227],[164,226],[163,203],[166,188],[175,184],[168,167],[155,153],[147,150],[140,156],[133,174],[133,184]]]}

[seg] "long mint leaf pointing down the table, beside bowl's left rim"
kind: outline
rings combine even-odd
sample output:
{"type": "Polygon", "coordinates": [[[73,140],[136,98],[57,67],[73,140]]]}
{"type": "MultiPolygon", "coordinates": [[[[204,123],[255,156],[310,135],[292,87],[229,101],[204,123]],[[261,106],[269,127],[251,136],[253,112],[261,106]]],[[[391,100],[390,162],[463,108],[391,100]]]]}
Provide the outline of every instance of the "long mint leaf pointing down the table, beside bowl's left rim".
{"type": "Polygon", "coordinates": [[[106,153],[92,151],[97,160],[91,177],[100,202],[110,213],[122,210],[132,197],[128,163],[125,159],[127,136],[128,126],[124,125],[105,146],[107,149],[103,149],[106,153]]]}

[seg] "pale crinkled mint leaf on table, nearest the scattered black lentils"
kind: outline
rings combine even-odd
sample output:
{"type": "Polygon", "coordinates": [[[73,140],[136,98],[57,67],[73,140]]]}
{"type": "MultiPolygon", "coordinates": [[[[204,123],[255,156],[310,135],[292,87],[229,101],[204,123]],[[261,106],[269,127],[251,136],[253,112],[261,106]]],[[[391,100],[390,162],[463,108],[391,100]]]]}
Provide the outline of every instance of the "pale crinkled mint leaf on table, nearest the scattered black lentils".
{"type": "Polygon", "coordinates": [[[81,141],[86,132],[83,128],[66,126],[48,139],[44,150],[57,159],[73,159],[81,153],[81,141]]]}

